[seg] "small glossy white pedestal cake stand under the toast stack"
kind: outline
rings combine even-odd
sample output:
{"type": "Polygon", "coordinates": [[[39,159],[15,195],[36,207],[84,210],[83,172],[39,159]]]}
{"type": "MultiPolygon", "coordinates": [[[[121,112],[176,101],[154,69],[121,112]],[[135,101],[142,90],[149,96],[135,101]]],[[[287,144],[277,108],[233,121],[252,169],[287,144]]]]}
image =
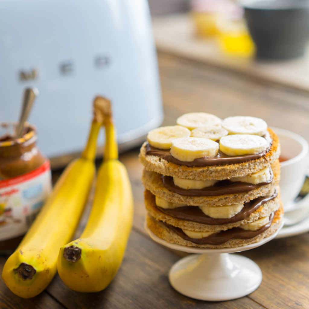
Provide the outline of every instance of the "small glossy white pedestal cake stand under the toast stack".
{"type": "Polygon", "coordinates": [[[275,238],[282,228],[258,243],[239,248],[205,249],[167,243],[152,233],[145,222],[144,227],[157,243],[178,251],[199,253],[186,256],[170,269],[171,286],[185,296],[208,301],[224,301],[246,296],[262,282],[262,272],[247,257],[229,253],[253,249],[275,238]]]}

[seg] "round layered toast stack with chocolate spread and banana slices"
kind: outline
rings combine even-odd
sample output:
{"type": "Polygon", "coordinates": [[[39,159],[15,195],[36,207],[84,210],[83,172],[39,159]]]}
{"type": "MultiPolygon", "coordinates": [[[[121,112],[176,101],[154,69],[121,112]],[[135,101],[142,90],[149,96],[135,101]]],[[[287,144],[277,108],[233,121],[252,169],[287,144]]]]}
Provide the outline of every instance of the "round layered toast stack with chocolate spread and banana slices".
{"type": "Polygon", "coordinates": [[[283,221],[280,144],[260,118],[207,113],[148,133],[146,222],[169,243],[237,248],[275,233],[283,221]]]}

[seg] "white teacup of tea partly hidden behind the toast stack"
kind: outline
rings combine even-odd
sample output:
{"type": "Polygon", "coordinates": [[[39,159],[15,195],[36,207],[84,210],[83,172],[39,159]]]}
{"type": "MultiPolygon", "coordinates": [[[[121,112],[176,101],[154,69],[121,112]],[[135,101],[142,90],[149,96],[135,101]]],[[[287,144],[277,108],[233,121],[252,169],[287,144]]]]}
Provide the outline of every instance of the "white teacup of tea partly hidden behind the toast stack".
{"type": "Polygon", "coordinates": [[[281,200],[285,210],[292,207],[292,202],[300,192],[308,168],[307,141],[300,135],[279,128],[272,128],[278,135],[281,145],[281,200]]]}

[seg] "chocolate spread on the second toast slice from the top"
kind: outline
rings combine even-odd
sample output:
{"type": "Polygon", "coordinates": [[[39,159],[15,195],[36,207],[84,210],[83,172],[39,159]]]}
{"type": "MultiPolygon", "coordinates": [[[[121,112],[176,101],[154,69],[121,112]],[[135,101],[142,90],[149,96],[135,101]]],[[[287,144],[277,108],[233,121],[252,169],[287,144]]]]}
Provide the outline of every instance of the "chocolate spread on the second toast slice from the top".
{"type": "Polygon", "coordinates": [[[248,192],[259,188],[265,184],[270,184],[273,181],[273,171],[270,169],[270,179],[259,184],[249,184],[242,181],[220,180],[211,187],[202,189],[183,189],[174,184],[173,177],[162,175],[162,181],[165,188],[171,192],[184,196],[215,196],[233,193],[248,192]]]}

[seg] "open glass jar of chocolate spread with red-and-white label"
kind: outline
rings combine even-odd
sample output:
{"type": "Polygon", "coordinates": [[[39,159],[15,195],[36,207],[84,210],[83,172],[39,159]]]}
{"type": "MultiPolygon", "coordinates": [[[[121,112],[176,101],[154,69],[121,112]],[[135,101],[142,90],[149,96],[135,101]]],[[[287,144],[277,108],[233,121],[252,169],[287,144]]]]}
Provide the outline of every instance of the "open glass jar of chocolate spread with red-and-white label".
{"type": "Polygon", "coordinates": [[[0,123],[0,254],[16,249],[51,192],[49,160],[27,124],[14,138],[15,123],[0,123]]]}

